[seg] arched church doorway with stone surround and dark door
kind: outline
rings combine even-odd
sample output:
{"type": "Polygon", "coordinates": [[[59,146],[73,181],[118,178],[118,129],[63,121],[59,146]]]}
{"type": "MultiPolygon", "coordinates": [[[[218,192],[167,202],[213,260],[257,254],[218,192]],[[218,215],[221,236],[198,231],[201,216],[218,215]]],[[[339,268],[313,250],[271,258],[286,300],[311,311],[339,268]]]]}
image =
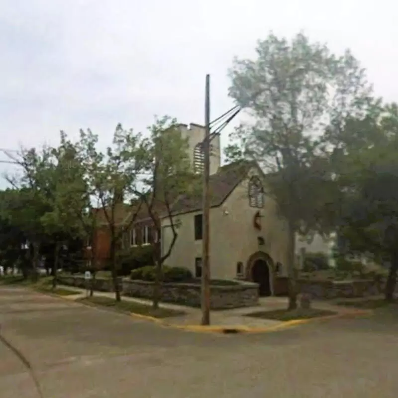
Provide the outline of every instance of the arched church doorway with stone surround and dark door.
{"type": "Polygon", "coordinates": [[[246,279],[259,285],[260,296],[273,295],[273,261],[264,252],[252,254],[247,262],[246,279]]]}

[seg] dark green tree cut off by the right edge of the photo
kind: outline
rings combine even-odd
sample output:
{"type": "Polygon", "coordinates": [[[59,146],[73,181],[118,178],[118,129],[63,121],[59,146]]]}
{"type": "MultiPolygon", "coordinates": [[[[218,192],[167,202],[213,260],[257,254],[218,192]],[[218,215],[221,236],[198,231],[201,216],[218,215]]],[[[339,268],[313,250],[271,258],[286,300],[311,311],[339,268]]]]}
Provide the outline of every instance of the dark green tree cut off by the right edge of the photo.
{"type": "Polygon", "coordinates": [[[398,271],[398,107],[384,106],[355,125],[361,127],[356,129],[360,140],[346,142],[345,157],[339,157],[342,252],[388,259],[385,293],[391,301],[398,271]]]}

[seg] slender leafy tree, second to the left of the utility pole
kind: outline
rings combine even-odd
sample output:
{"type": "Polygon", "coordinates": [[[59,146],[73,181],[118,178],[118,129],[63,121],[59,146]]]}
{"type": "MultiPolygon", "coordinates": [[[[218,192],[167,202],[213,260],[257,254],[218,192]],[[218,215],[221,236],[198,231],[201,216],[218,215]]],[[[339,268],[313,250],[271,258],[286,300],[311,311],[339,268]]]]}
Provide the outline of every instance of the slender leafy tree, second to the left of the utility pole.
{"type": "Polygon", "coordinates": [[[119,124],[113,135],[112,147],[102,154],[96,149],[97,137],[91,131],[81,132],[89,192],[100,203],[103,215],[102,220],[98,220],[98,226],[109,232],[109,261],[116,301],[121,300],[116,252],[121,247],[124,233],[129,230],[142,206],[141,202],[136,205],[124,203],[137,191],[143,165],[143,159],[137,157],[142,153],[139,151],[141,142],[141,134],[136,134],[132,129],[124,130],[119,124]],[[126,213],[127,217],[120,218],[126,213]]]}

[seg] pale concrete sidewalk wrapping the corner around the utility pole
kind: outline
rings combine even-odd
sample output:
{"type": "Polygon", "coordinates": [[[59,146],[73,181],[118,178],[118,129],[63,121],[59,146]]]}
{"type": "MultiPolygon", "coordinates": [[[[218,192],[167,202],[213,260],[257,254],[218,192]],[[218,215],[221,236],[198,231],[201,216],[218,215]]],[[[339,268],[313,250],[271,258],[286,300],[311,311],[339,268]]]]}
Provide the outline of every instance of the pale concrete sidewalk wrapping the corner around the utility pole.
{"type": "MultiPolygon", "coordinates": [[[[79,291],[78,295],[66,296],[65,298],[76,300],[86,296],[86,291],[84,289],[62,286],[64,289],[71,289],[79,291]]],[[[110,292],[95,292],[95,296],[114,298],[114,293],[110,292]]],[[[151,305],[152,301],[142,298],[132,298],[127,296],[122,296],[125,301],[133,301],[143,305],[151,305]]],[[[276,309],[287,308],[288,298],[286,297],[267,297],[260,298],[259,305],[252,307],[234,308],[226,310],[211,311],[211,325],[212,329],[219,328],[229,328],[229,329],[256,329],[258,331],[266,331],[267,329],[278,329],[283,326],[288,326],[291,324],[304,323],[303,321],[277,321],[271,319],[260,319],[246,316],[252,312],[259,311],[271,311],[276,309]]],[[[160,307],[175,309],[178,311],[185,312],[185,315],[168,317],[162,320],[164,325],[176,326],[181,328],[192,328],[200,325],[201,321],[201,311],[199,308],[192,308],[184,305],[160,303],[160,307]]],[[[347,308],[340,305],[336,305],[324,301],[313,301],[312,307],[317,309],[324,309],[336,312],[338,315],[355,315],[358,313],[357,309],[347,308]]],[[[148,317],[150,318],[150,317],[148,317]]],[[[306,319],[305,321],[308,321],[306,319]]]]}

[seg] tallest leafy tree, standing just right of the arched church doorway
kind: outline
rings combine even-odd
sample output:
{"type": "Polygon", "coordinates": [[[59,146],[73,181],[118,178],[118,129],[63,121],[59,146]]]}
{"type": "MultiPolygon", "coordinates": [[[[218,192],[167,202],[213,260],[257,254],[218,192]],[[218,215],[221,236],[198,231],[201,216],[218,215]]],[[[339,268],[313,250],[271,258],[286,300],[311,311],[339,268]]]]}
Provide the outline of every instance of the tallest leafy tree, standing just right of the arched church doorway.
{"type": "Polygon", "coordinates": [[[251,121],[232,134],[229,159],[251,158],[266,171],[288,230],[289,308],[297,307],[295,235],[325,233],[334,212],[331,136],[371,102],[365,71],[347,50],[341,57],[302,33],[291,42],[270,34],[255,60],[235,59],[230,96],[251,121]],[[328,134],[326,134],[326,132],[328,134]]]}

